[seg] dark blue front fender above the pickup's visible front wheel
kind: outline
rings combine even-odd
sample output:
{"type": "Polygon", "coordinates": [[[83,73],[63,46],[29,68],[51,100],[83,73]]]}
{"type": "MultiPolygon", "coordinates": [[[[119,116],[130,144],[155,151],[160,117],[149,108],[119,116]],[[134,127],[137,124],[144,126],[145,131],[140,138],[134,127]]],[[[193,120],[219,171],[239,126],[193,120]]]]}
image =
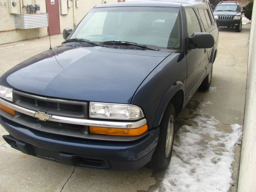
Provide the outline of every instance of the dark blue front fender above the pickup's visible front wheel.
{"type": "Polygon", "coordinates": [[[184,54],[173,53],[141,83],[134,94],[132,104],[142,108],[149,129],[157,127],[172,96],[179,90],[184,90],[186,75],[187,66],[184,54]]]}

